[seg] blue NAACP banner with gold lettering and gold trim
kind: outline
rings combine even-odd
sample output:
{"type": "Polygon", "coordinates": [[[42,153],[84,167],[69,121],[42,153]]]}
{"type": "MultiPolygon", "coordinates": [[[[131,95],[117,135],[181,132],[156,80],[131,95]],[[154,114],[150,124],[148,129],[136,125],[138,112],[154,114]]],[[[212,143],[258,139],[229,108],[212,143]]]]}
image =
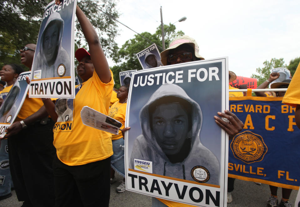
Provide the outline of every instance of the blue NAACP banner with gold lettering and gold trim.
{"type": "Polygon", "coordinates": [[[229,99],[229,109],[245,124],[228,149],[228,177],[298,189],[300,130],[295,108],[282,98],[229,99]]]}

